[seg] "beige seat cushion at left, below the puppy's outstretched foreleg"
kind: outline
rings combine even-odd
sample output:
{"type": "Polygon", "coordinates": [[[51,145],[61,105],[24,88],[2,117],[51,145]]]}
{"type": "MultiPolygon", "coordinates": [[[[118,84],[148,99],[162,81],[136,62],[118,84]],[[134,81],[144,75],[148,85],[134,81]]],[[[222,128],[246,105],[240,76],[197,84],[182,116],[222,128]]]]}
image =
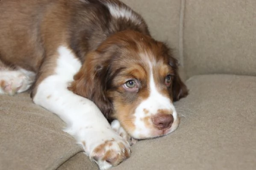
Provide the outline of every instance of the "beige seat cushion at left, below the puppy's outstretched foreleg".
{"type": "MultiPolygon", "coordinates": [[[[28,93],[0,95],[0,169],[55,170],[82,152],[65,123],[32,103],[28,93]]],[[[84,168],[95,167],[84,156],[84,168]]]]}

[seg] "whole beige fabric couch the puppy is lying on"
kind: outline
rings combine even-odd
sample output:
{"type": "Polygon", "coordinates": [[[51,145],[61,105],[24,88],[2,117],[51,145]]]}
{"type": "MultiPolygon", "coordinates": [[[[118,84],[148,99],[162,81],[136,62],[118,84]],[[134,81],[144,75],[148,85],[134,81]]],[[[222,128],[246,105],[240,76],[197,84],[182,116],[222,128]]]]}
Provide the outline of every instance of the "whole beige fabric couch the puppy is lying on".
{"type": "MultiPolygon", "coordinates": [[[[256,170],[256,1],[124,2],[174,48],[190,94],[176,132],[112,170],[256,170]]],[[[0,170],[97,170],[63,127],[28,93],[0,96],[0,170]]]]}

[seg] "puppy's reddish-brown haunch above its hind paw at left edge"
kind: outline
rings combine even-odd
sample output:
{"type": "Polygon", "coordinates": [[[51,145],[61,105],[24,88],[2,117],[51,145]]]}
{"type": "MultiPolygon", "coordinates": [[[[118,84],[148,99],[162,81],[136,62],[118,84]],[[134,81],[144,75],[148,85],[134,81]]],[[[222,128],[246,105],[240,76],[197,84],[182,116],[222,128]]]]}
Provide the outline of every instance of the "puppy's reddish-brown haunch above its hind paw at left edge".
{"type": "Polygon", "coordinates": [[[50,1],[1,1],[0,59],[6,65],[38,70],[44,54],[39,22],[50,1]]]}

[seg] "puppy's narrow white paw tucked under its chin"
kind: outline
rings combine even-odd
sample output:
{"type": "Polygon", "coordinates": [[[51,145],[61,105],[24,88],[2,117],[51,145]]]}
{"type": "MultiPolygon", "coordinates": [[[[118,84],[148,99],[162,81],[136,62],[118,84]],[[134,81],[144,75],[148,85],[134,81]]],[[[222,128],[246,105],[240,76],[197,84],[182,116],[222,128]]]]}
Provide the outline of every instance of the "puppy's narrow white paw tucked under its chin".
{"type": "Polygon", "coordinates": [[[111,127],[112,127],[113,130],[115,130],[116,133],[119,134],[119,136],[121,136],[127,142],[129,142],[130,146],[132,146],[133,144],[135,144],[137,142],[136,139],[129,136],[129,134],[124,130],[124,128],[121,126],[120,122],[117,119],[115,119],[111,123],[111,127]]]}

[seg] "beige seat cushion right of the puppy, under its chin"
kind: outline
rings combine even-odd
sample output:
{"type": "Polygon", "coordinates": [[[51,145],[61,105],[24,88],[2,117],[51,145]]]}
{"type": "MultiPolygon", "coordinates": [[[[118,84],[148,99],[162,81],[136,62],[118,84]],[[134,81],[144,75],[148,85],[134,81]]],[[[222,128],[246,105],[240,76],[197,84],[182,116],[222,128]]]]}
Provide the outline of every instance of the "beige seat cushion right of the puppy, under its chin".
{"type": "Polygon", "coordinates": [[[256,77],[205,75],[187,81],[176,102],[181,124],[168,136],[140,141],[112,170],[254,170],[256,77]]]}

